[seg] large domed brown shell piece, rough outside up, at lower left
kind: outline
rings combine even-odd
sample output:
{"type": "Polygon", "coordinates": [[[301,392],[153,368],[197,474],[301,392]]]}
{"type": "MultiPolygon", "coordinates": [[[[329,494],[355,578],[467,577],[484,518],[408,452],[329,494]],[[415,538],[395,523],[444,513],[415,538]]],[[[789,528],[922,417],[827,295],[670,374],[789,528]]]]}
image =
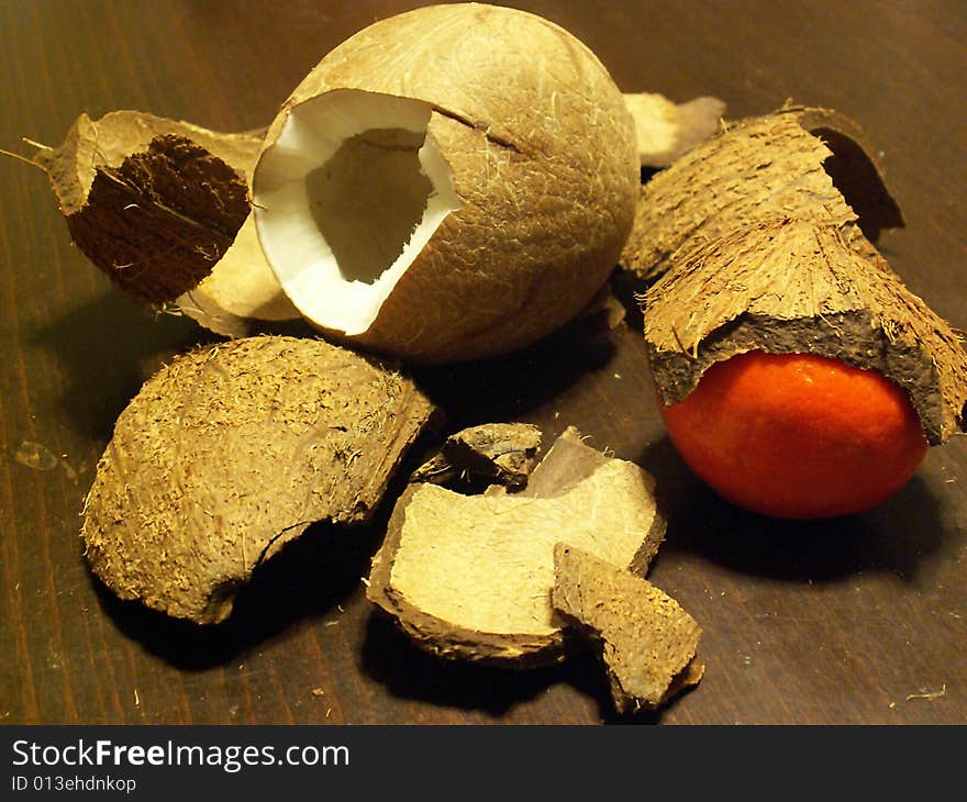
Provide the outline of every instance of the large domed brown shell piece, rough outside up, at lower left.
{"type": "Polygon", "coordinates": [[[365,521],[433,408],[390,366],[316,339],[177,357],[122,412],[87,497],[91,568],[198,623],[313,522],[365,521]]]}

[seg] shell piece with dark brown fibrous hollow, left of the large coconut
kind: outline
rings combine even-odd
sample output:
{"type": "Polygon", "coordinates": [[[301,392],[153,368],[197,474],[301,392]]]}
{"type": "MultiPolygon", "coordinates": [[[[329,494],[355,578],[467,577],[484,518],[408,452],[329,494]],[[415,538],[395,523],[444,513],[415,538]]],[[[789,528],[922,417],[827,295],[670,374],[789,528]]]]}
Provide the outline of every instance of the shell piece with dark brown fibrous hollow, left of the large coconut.
{"type": "Polygon", "coordinates": [[[34,160],[84,254],[126,292],[163,304],[197,286],[232,244],[248,216],[248,186],[225,158],[251,164],[260,142],[121,111],[97,122],[81,114],[34,160]]]}

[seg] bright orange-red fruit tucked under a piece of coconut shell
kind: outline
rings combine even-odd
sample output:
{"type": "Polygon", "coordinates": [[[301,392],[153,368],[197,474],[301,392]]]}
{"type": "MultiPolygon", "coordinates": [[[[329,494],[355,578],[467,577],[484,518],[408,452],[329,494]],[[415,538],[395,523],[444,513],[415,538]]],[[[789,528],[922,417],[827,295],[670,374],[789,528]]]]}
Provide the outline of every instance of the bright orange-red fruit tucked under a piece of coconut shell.
{"type": "Polygon", "coordinates": [[[863,512],[902,488],[927,443],[899,386],[812,354],[756,350],[662,406],[671,442],[725,500],[781,519],[863,512]]]}

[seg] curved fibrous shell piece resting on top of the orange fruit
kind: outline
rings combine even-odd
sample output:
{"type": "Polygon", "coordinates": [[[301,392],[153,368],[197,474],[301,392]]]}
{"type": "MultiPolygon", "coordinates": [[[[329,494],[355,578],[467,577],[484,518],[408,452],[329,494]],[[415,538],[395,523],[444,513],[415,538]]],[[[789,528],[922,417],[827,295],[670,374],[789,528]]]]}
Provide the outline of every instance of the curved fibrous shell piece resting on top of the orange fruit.
{"type": "Polygon", "coordinates": [[[680,254],[647,291],[645,341],[662,401],[734,354],[804,352],[878,370],[938,444],[967,428],[967,353],[881,260],[825,216],[763,220],[680,254]]]}

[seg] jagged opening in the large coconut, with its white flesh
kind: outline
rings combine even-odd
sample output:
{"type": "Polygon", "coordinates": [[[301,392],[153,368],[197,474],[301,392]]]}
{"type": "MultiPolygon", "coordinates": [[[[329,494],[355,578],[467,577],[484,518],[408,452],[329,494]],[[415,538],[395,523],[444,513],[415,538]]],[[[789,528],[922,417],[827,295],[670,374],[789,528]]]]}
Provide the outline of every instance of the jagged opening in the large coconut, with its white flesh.
{"type": "Polygon", "coordinates": [[[460,202],[427,133],[429,103],[340,89],[292,107],[262,156],[253,200],[262,247],[311,322],[366,332],[460,202]]]}

